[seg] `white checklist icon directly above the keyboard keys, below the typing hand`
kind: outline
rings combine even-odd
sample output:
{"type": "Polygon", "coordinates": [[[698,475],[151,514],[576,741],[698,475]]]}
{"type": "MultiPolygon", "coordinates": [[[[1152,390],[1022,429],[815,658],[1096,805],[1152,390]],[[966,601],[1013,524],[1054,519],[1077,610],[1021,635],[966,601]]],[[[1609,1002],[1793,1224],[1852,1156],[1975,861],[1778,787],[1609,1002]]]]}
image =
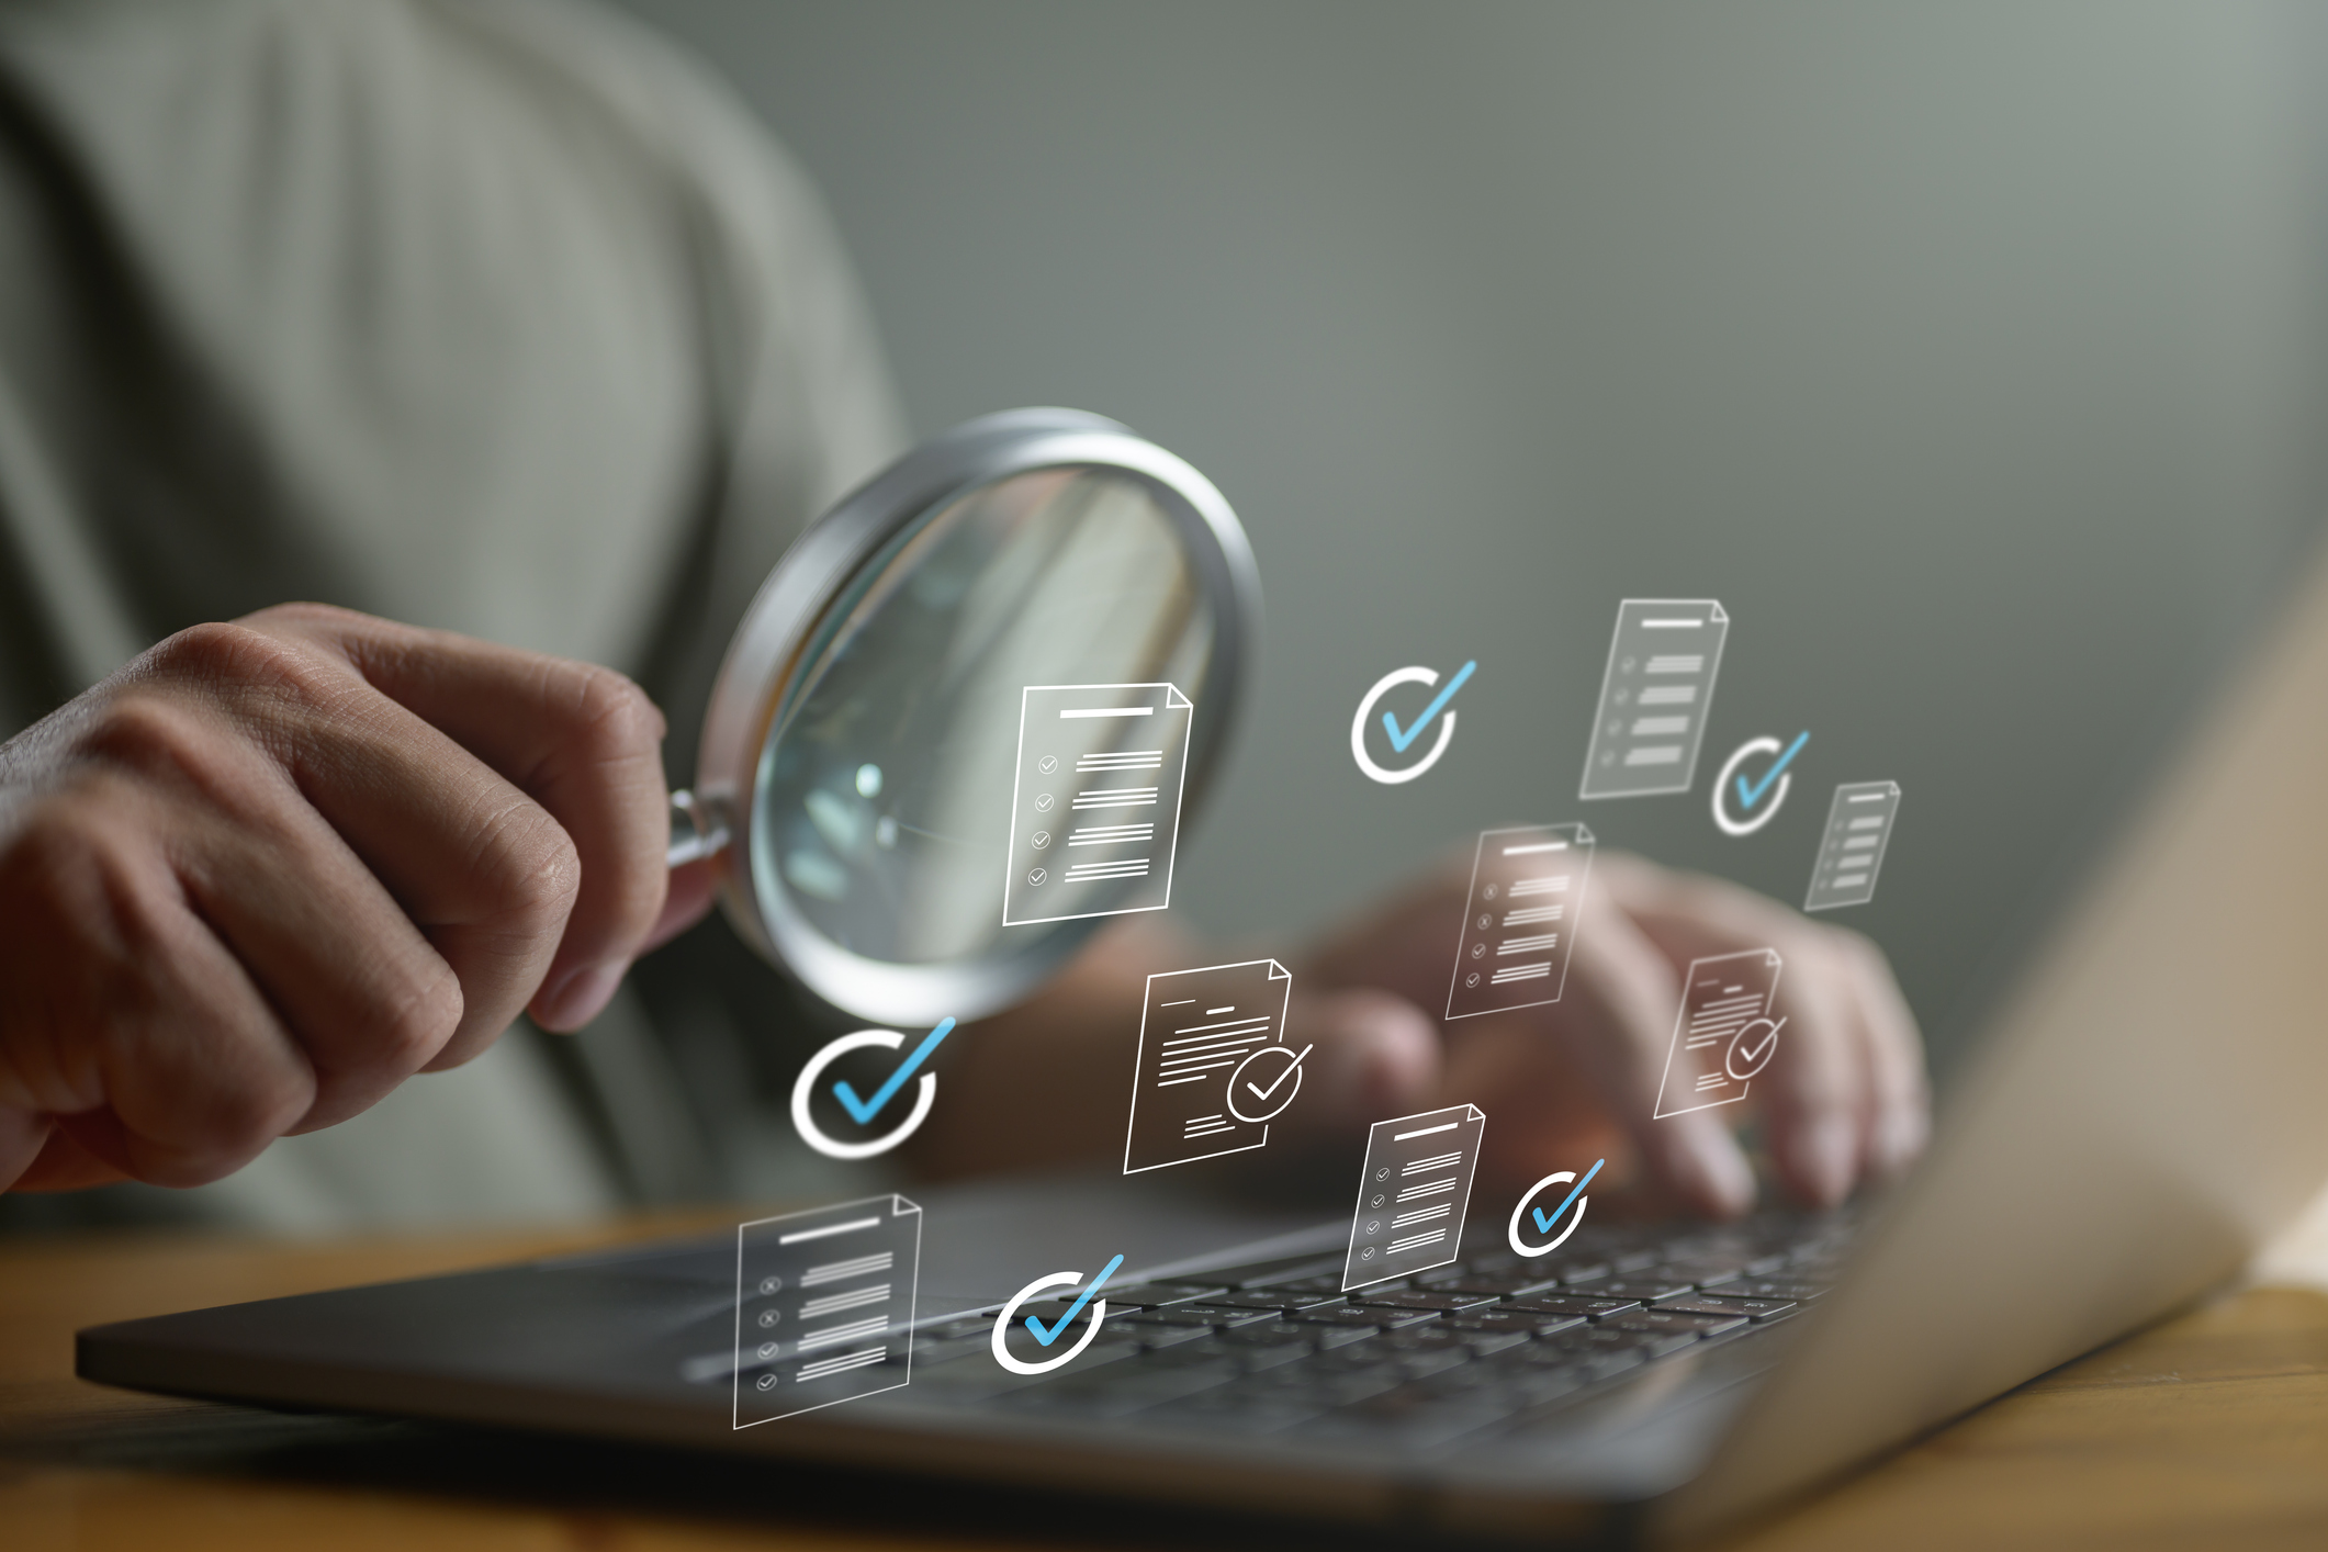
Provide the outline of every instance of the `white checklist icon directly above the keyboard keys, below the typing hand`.
{"type": "Polygon", "coordinates": [[[1350,1259],[1343,1291],[1446,1266],[1462,1247],[1478,1140],[1488,1117],[1478,1105],[1450,1105],[1367,1133],[1367,1170],[1357,1177],[1350,1259]]]}

